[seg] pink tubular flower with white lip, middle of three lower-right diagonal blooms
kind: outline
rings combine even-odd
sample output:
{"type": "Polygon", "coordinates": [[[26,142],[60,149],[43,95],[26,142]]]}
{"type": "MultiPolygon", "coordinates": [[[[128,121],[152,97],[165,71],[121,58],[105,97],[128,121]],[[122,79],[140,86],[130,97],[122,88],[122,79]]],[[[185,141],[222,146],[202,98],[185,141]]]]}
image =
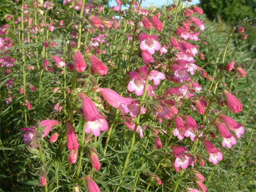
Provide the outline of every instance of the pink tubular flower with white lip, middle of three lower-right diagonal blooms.
{"type": "Polygon", "coordinates": [[[234,145],[237,143],[236,138],[230,133],[230,131],[227,129],[227,127],[223,123],[219,123],[219,121],[215,121],[214,123],[217,125],[219,134],[223,139],[222,140],[223,147],[227,146],[227,148],[231,148],[232,144],[234,145]]]}

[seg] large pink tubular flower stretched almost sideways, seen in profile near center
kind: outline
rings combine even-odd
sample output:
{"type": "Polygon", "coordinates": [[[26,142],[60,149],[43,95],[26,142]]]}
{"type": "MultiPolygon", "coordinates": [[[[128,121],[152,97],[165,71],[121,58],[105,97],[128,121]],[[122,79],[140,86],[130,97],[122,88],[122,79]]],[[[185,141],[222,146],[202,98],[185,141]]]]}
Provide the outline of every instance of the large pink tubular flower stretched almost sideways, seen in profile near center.
{"type": "Polygon", "coordinates": [[[108,88],[100,88],[96,87],[96,91],[100,92],[105,100],[111,105],[113,108],[121,110],[123,116],[125,116],[125,110],[123,105],[129,105],[132,103],[132,98],[125,98],[116,93],[115,91],[108,88]]]}

